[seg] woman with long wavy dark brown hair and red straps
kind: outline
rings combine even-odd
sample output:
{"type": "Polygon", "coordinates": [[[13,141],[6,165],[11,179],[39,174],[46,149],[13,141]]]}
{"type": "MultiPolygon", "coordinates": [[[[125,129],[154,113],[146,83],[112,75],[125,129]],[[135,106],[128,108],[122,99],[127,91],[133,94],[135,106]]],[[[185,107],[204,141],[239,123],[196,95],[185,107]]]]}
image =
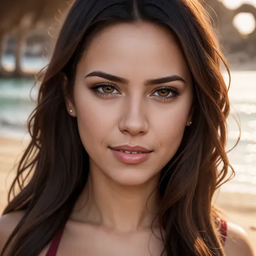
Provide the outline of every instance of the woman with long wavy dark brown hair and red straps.
{"type": "Polygon", "coordinates": [[[30,118],[2,255],[253,255],[212,205],[230,166],[220,60],[194,0],[77,0],[30,118]]]}

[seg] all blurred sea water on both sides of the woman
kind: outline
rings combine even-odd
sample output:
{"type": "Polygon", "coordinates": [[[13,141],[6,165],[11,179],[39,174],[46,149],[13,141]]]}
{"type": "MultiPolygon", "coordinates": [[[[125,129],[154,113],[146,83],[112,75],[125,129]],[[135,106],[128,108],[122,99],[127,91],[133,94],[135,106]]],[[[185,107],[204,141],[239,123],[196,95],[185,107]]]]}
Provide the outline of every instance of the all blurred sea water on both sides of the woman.
{"type": "MultiPolygon", "coordinates": [[[[12,59],[5,58],[5,65],[11,68],[12,59]]],[[[47,60],[24,60],[26,69],[40,69],[47,60]]],[[[231,115],[228,117],[228,144],[231,149],[239,136],[241,139],[230,153],[231,164],[236,176],[222,188],[228,192],[256,194],[256,71],[232,71],[229,91],[231,115]]],[[[227,79],[227,74],[224,73],[227,79]]],[[[28,136],[26,122],[35,107],[30,96],[36,99],[38,88],[32,91],[34,81],[29,79],[0,79],[0,135],[11,137],[28,136]]]]}

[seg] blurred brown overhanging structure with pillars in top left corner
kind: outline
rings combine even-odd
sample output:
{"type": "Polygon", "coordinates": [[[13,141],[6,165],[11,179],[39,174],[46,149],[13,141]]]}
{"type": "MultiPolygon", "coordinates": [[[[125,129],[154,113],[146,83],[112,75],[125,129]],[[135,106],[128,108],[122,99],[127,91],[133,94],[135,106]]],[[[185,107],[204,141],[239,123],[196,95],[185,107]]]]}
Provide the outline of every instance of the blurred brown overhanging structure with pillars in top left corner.
{"type": "Polygon", "coordinates": [[[22,77],[21,59],[25,38],[33,28],[43,26],[46,30],[56,21],[56,16],[69,2],[65,0],[0,0],[0,59],[2,59],[3,41],[6,34],[16,35],[15,71],[7,72],[0,62],[0,76],[22,77]]]}

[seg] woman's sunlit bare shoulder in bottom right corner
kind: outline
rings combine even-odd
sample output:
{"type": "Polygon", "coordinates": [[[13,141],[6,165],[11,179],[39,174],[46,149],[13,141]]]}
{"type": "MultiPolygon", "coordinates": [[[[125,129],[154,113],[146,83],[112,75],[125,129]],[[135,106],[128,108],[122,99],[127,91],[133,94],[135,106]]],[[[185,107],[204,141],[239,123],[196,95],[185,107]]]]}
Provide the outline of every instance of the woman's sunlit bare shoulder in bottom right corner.
{"type": "Polygon", "coordinates": [[[252,245],[245,230],[233,223],[227,223],[224,250],[227,256],[254,256],[252,245]]]}

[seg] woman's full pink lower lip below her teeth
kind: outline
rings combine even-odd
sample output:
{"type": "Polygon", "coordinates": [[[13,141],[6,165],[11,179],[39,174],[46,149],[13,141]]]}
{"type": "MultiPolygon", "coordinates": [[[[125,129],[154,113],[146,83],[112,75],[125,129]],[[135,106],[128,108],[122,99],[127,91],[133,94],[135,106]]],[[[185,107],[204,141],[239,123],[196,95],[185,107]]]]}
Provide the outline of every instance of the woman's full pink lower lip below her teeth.
{"type": "Polygon", "coordinates": [[[149,159],[151,152],[149,153],[137,153],[137,154],[132,154],[132,153],[125,153],[125,152],[120,152],[117,150],[112,150],[110,149],[114,157],[116,157],[117,160],[122,161],[125,164],[139,164],[147,159],[149,159]]]}

